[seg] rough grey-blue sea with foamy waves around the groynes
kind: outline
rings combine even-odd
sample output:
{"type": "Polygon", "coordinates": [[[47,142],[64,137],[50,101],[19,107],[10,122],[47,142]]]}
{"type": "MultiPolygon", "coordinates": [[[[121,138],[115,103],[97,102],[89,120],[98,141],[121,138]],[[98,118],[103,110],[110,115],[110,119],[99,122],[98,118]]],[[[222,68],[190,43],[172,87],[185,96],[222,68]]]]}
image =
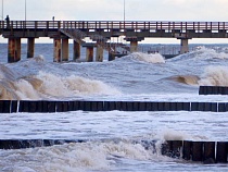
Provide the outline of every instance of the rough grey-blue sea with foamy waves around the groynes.
{"type": "MultiPolygon", "coordinates": [[[[36,44],[35,57],[8,63],[0,44],[2,100],[130,100],[227,102],[221,95],[199,95],[199,86],[228,86],[228,45],[190,45],[166,59],[148,53],[179,45],[140,45],[143,51],[113,61],[53,62],[53,45],[36,44]]],[[[72,47],[72,46],[69,46],[72,47]]],[[[168,50],[170,51],[170,50],[168,50]]],[[[176,52],[175,52],[176,53],[176,52]]],[[[0,139],[85,140],[51,147],[0,150],[0,172],[177,172],[228,171],[228,164],[203,164],[161,153],[168,139],[228,142],[227,112],[98,111],[2,113],[0,139]],[[142,142],[143,140],[143,142],[142,142]],[[153,147],[144,144],[157,140],[153,147]]]]}

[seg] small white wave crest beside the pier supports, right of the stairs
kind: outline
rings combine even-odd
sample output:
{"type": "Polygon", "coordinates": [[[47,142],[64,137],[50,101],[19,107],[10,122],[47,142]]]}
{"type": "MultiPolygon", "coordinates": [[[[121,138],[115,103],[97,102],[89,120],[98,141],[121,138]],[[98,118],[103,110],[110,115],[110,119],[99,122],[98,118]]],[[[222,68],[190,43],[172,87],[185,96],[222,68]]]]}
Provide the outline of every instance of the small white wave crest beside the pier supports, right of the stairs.
{"type": "Polygon", "coordinates": [[[135,60],[148,62],[148,63],[165,63],[165,59],[160,53],[142,53],[134,52],[130,57],[135,60]]]}

